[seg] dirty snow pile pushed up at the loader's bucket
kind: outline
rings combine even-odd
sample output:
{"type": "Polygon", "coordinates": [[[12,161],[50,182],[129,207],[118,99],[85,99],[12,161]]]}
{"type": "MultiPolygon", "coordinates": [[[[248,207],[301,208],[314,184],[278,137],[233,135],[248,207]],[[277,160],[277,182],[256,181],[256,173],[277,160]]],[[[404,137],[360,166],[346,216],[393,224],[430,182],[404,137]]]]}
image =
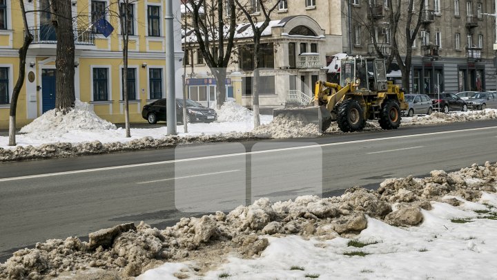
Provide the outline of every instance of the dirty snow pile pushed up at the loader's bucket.
{"type": "Polygon", "coordinates": [[[286,113],[277,115],[269,124],[256,127],[252,133],[256,137],[300,138],[320,136],[318,124],[309,123],[304,115],[286,113]]]}

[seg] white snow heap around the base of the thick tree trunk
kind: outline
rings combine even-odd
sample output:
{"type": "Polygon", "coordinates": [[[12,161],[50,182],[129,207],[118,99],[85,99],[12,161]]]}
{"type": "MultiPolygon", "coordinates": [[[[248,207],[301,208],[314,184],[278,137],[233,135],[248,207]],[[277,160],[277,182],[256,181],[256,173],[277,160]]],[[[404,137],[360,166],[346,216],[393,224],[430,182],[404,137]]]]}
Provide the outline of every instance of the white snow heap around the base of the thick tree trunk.
{"type": "Polygon", "coordinates": [[[116,129],[111,122],[102,120],[90,108],[90,104],[76,100],[75,108],[66,115],[52,109],[43,113],[21,129],[21,133],[50,134],[54,136],[71,130],[109,130],[116,129]]]}

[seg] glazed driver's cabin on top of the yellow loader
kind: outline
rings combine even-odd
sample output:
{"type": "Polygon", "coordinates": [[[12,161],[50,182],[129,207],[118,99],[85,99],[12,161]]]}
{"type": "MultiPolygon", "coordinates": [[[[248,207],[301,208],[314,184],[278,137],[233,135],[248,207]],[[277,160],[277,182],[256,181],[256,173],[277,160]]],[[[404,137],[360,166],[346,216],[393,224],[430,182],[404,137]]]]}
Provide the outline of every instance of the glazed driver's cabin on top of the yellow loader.
{"type": "MultiPolygon", "coordinates": [[[[375,57],[347,57],[342,59],[340,86],[355,83],[362,93],[387,91],[387,72],[384,59],[375,57]]],[[[367,93],[366,93],[367,94],[367,93]]]]}

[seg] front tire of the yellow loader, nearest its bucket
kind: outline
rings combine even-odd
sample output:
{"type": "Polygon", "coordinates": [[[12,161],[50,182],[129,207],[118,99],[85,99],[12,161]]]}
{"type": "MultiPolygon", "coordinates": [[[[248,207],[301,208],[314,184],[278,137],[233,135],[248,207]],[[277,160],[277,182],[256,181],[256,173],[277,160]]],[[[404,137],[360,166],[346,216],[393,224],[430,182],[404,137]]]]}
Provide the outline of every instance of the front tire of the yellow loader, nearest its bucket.
{"type": "Polygon", "coordinates": [[[359,103],[353,99],[345,100],[338,106],[338,127],[343,132],[360,131],[364,129],[364,113],[359,103]]]}

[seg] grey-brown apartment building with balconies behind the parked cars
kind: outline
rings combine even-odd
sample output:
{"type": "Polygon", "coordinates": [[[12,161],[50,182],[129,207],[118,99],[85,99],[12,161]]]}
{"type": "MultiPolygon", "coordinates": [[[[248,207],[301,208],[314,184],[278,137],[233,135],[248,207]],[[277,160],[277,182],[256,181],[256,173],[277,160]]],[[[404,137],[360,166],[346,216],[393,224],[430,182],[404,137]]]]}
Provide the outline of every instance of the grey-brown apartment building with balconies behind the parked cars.
{"type": "MultiPolygon", "coordinates": [[[[373,45],[376,39],[382,53],[391,53],[388,3],[386,0],[342,1],[344,51],[353,55],[377,55],[373,45]]],[[[495,18],[485,15],[496,11],[494,1],[426,0],[422,8],[416,7],[418,1],[414,3],[413,21],[417,21],[421,14],[422,23],[413,42],[409,91],[437,93],[495,89],[495,18]]],[[[400,55],[405,57],[407,0],[402,0],[402,7],[397,39],[400,55]]],[[[396,60],[393,62],[391,68],[399,75],[396,60]]]]}

